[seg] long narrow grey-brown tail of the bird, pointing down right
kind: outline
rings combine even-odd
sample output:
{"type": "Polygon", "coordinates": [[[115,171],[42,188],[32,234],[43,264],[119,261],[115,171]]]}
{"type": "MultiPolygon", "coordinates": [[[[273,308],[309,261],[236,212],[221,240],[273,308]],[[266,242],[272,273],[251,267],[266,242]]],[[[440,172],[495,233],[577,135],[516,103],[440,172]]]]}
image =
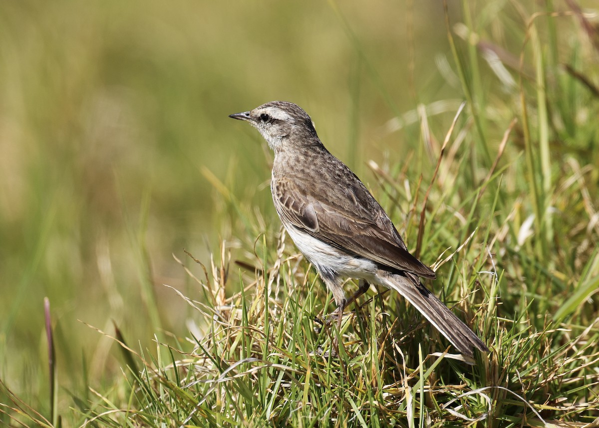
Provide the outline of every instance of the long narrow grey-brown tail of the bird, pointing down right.
{"type": "Polygon", "coordinates": [[[485,346],[474,331],[464,322],[456,317],[452,311],[437,299],[430,291],[420,284],[416,276],[389,274],[379,276],[383,285],[397,291],[404,296],[412,305],[416,306],[418,311],[431,322],[455,346],[458,351],[467,357],[472,358],[473,349],[488,352],[489,348],[485,346]]]}

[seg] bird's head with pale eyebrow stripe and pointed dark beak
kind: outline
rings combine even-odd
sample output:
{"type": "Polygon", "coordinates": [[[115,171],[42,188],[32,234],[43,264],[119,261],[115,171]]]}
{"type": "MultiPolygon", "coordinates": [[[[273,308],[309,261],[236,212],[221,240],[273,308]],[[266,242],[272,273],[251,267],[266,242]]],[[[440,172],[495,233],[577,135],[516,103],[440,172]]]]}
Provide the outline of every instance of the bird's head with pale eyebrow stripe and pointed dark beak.
{"type": "Polygon", "coordinates": [[[295,144],[322,144],[310,116],[301,107],[287,101],[271,101],[250,111],[229,115],[254,126],[277,151],[295,144]]]}

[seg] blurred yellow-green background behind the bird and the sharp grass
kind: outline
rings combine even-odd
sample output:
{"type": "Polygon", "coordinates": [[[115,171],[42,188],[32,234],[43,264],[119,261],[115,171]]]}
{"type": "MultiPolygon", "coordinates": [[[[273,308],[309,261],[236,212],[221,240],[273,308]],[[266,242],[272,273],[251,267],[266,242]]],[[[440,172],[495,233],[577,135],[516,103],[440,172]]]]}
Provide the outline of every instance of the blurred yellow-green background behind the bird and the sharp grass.
{"type": "MultiPolygon", "coordinates": [[[[461,5],[450,2],[450,17],[462,16],[461,5]]],[[[518,9],[529,7],[480,2],[473,15],[518,58],[518,9]]],[[[442,141],[464,99],[437,1],[0,8],[0,378],[25,397],[46,388],[44,296],[61,369],[85,361],[98,382],[120,370],[117,355],[78,320],[105,331],[114,320],[142,346],[156,328],[186,328],[186,304],[162,284],[183,293],[196,286],[171,254],[184,259],[184,248],[210,264],[220,239],[234,258],[240,246],[235,213],[223,211],[215,183],[278,230],[270,155],[257,132],[228,114],[295,102],[369,182],[365,161],[401,164],[419,146],[419,104],[442,101],[429,111],[442,141]],[[391,131],[397,116],[409,120],[391,131]],[[158,314],[147,309],[152,299],[158,314]]],[[[501,85],[488,65],[480,68],[483,92],[501,85]]],[[[497,145],[513,112],[488,117],[497,145]]]]}

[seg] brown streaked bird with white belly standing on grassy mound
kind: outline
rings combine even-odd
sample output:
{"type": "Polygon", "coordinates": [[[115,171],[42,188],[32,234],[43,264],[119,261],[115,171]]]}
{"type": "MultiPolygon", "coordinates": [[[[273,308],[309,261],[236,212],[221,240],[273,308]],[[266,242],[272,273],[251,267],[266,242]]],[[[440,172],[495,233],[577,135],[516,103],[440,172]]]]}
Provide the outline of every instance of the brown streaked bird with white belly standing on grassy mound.
{"type": "Polygon", "coordinates": [[[358,176],[326,149],[301,107],[271,101],[229,117],[249,122],[273,150],[274,206],[295,246],[332,294],[338,331],[346,306],[374,284],[401,294],[470,364],[474,349],[489,351],[422,285],[420,278],[435,279],[435,272],[410,254],[385,210],[358,176]],[[345,278],[359,279],[358,291],[349,299],[345,278]]]}

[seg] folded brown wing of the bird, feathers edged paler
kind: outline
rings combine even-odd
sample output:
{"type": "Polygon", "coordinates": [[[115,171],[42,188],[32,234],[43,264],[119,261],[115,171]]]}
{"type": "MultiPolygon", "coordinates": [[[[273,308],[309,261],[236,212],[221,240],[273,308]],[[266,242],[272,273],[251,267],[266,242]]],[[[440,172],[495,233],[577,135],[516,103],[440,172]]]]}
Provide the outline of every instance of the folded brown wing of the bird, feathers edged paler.
{"type": "Polygon", "coordinates": [[[435,273],[410,254],[385,210],[352,175],[350,186],[328,188],[278,179],[272,183],[277,212],[284,221],[343,251],[383,266],[435,278],[435,273]],[[308,191],[309,189],[309,191],[308,191]]]}

